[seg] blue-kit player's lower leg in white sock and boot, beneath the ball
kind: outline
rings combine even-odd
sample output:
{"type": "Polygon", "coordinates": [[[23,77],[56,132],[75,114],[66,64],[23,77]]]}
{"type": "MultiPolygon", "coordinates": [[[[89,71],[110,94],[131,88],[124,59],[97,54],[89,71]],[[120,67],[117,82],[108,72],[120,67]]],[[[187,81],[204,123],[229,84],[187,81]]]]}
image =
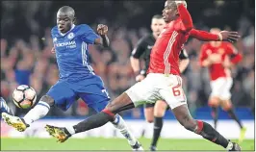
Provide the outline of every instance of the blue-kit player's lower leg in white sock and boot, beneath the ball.
{"type": "Polygon", "coordinates": [[[23,118],[10,114],[2,114],[2,116],[8,125],[12,126],[19,132],[24,132],[32,122],[45,116],[50,110],[50,105],[52,106],[53,104],[54,100],[50,96],[44,95],[40,98],[38,104],[23,118]]]}

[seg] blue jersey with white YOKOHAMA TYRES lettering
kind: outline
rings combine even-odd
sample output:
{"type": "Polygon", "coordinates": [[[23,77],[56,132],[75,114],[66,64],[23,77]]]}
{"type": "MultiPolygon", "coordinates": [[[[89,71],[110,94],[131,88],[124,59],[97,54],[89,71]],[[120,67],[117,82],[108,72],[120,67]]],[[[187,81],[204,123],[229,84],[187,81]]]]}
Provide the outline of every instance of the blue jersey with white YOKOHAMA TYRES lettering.
{"type": "Polygon", "coordinates": [[[90,77],[93,69],[89,62],[89,44],[99,38],[87,24],[73,25],[71,30],[61,34],[55,26],[51,35],[56,50],[60,78],[81,80],[90,77]]]}

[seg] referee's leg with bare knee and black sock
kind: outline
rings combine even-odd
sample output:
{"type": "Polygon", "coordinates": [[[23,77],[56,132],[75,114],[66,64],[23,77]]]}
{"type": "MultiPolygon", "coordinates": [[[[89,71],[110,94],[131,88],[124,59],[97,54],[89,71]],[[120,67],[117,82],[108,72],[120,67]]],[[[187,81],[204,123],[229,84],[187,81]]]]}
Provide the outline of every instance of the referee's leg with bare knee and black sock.
{"type": "Polygon", "coordinates": [[[165,101],[159,100],[154,107],[154,130],[153,139],[150,145],[150,151],[157,150],[157,141],[160,138],[163,128],[163,116],[166,114],[167,104],[165,101]]]}

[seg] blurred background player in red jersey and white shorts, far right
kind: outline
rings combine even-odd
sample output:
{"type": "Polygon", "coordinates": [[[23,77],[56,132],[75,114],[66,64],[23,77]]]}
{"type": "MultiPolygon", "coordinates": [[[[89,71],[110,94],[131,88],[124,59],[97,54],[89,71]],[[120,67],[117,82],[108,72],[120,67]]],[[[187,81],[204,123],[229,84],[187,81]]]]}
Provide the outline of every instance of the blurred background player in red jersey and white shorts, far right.
{"type": "MultiPolygon", "coordinates": [[[[220,30],[213,28],[211,33],[217,34],[220,30]]],[[[202,45],[199,63],[203,67],[208,67],[211,79],[212,93],[209,97],[209,106],[212,108],[212,116],[215,121],[215,129],[218,121],[218,107],[227,112],[241,128],[240,142],[243,141],[246,129],[234,113],[231,102],[230,89],[233,80],[230,74],[230,66],[239,63],[242,55],[229,42],[211,41],[202,45]]]]}

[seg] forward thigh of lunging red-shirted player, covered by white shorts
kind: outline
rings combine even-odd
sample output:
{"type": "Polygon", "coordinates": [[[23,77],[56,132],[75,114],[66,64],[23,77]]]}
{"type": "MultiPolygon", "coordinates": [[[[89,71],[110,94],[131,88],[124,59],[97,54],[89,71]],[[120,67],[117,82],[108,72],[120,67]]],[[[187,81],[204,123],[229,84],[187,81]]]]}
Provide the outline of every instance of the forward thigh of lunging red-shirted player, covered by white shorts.
{"type": "Polygon", "coordinates": [[[127,89],[125,93],[131,98],[135,107],[143,103],[155,103],[159,99],[158,89],[154,87],[154,80],[148,76],[127,89]]]}

